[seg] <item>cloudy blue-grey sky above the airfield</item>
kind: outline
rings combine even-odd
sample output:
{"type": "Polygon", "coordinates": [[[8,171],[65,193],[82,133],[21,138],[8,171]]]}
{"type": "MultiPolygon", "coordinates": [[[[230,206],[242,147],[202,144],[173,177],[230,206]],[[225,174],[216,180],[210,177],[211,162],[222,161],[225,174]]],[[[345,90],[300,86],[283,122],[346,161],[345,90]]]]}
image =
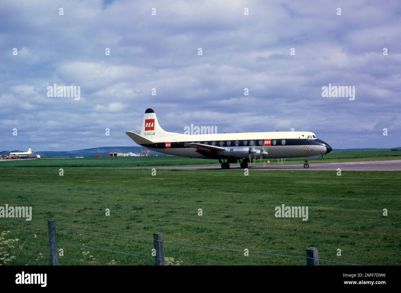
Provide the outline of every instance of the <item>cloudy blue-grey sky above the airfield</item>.
{"type": "Polygon", "coordinates": [[[146,108],[178,133],[295,128],[335,149],[401,146],[400,44],[398,0],[2,0],[0,151],[134,146],[125,131],[140,132],[146,108]],[[79,85],[80,100],[49,98],[54,83],[79,85]],[[329,83],[355,100],[322,97],[329,83]]]}

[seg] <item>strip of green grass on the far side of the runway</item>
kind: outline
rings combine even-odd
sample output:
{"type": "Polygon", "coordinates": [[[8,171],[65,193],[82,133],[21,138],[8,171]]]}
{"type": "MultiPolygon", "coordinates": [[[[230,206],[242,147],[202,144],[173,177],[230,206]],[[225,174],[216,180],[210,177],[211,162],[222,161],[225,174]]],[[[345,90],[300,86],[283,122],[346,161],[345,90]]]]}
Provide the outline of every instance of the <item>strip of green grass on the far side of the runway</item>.
{"type": "MultiPolygon", "coordinates": [[[[314,163],[337,163],[352,161],[401,160],[401,152],[389,150],[350,150],[334,151],[324,155],[323,159],[311,160],[314,163]]],[[[286,159],[284,164],[303,164],[302,158],[286,159]]],[[[271,159],[268,165],[277,165],[277,159],[271,159]]],[[[281,162],[280,162],[281,163],[281,162]]],[[[257,160],[257,165],[261,164],[257,160]]],[[[86,157],[84,159],[40,159],[40,160],[2,160],[0,168],[8,167],[166,167],[220,165],[217,160],[190,159],[176,156],[151,157],[86,157]]]]}

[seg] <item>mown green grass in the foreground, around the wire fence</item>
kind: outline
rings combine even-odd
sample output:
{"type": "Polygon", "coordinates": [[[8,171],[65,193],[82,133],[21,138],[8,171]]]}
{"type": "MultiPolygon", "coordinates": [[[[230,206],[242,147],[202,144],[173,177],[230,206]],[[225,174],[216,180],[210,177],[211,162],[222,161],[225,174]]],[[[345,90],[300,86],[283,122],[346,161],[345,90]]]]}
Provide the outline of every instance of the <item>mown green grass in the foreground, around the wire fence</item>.
{"type": "MultiPolygon", "coordinates": [[[[372,157],[379,156],[375,153],[372,157]]],[[[244,176],[240,171],[157,170],[157,175],[152,176],[146,169],[99,168],[111,167],[111,160],[119,167],[135,166],[130,165],[132,162],[142,164],[136,159],[144,160],[145,165],[180,162],[175,157],[128,158],[130,163],[119,159],[64,159],[63,165],[57,165],[61,159],[22,160],[14,162],[22,164],[20,167],[13,168],[12,163],[0,163],[0,206],[32,206],[31,223],[46,224],[54,219],[57,226],[140,238],[153,238],[153,233],[163,232],[164,240],[171,242],[293,256],[305,256],[306,247],[316,246],[321,259],[400,265],[399,171],[343,171],[342,176],[332,171],[250,171],[249,176],[244,176]],[[22,167],[26,165],[32,166],[22,167]],[[93,165],[96,167],[86,167],[93,165]],[[59,167],[64,168],[64,176],[59,176],[59,167]],[[282,203],[308,206],[308,221],[275,218],[275,207],[282,203]],[[105,216],[106,208],[110,216],[105,216]],[[203,216],[198,216],[199,208],[203,216]],[[388,209],[388,216],[383,216],[383,208],[388,209]],[[338,248],[342,256],[336,256],[338,248]]],[[[12,237],[20,239],[19,245],[26,240],[23,247],[31,251],[22,250],[18,259],[49,264],[47,226],[0,220],[0,230],[18,235],[12,237]],[[22,237],[34,235],[36,239],[22,237]],[[36,252],[45,255],[36,261],[36,252]]],[[[68,258],[102,265],[111,260],[118,265],[154,263],[151,258],[93,249],[150,257],[152,240],[61,228],[57,229],[57,238],[92,247],[59,243],[68,258]]],[[[253,253],[244,256],[243,252],[172,243],[165,243],[164,250],[166,257],[198,265],[306,264],[305,258],[253,253]]],[[[67,258],[61,258],[60,264],[87,265],[67,258]]]]}

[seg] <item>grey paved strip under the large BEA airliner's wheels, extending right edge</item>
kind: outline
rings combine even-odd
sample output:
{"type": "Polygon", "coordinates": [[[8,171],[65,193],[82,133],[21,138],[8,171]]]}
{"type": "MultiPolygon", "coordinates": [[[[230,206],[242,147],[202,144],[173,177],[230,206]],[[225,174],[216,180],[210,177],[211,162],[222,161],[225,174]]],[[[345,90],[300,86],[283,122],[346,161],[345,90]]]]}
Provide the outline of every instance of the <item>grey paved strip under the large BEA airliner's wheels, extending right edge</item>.
{"type": "MultiPolygon", "coordinates": [[[[196,166],[196,167],[142,167],[142,168],[117,168],[117,169],[166,169],[166,170],[222,170],[220,166],[196,166]]],[[[345,163],[309,163],[309,168],[305,169],[303,164],[298,165],[255,165],[249,164],[249,170],[256,171],[274,171],[274,170],[305,170],[305,171],[337,171],[340,168],[341,171],[401,171],[401,160],[391,161],[365,161],[365,162],[345,162],[345,163]]],[[[229,170],[240,170],[241,167],[237,164],[232,164],[229,170]]],[[[222,170],[223,171],[223,170],[222,170]]]]}

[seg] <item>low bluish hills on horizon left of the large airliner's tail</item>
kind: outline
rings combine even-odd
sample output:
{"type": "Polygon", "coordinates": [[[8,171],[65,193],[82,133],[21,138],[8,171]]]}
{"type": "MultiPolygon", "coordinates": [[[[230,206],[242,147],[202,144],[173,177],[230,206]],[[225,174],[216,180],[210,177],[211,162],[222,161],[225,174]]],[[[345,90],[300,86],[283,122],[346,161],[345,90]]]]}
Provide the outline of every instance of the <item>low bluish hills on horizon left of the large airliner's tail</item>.
{"type": "MultiPolygon", "coordinates": [[[[108,155],[109,153],[141,153],[142,146],[102,146],[93,149],[83,149],[76,151],[35,151],[34,155],[40,155],[41,157],[93,157],[94,155],[108,155]]],[[[14,152],[14,151],[13,151],[14,152]]],[[[19,152],[19,151],[15,151],[19,152]]],[[[9,154],[10,151],[2,151],[2,154],[9,154]]],[[[151,155],[164,155],[162,153],[150,151],[151,155]]]]}

